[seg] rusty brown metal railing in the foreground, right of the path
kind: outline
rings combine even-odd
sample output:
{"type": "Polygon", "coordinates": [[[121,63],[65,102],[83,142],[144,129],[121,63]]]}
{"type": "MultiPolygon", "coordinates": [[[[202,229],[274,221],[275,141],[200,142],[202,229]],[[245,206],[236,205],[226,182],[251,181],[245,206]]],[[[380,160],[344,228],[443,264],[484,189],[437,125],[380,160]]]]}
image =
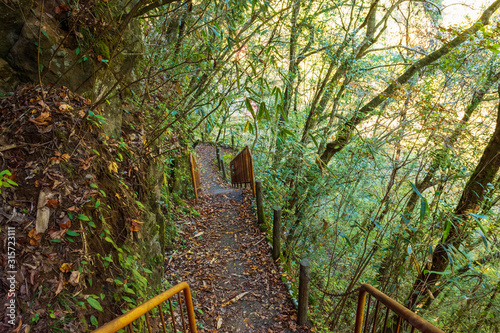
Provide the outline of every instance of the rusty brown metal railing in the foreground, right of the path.
{"type": "Polygon", "coordinates": [[[369,284],[363,284],[359,290],[358,310],[356,311],[356,324],[354,332],[361,333],[363,330],[364,333],[370,331],[372,333],[385,333],[387,329],[390,329],[390,331],[394,333],[401,333],[403,331],[409,331],[413,333],[416,329],[424,333],[444,333],[442,330],[432,325],[427,320],[418,316],[414,312],[410,311],[408,308],[404,307],[402,304],[390,298],[375,287],[369,284]],[[366,301],[367,294],[368,301],[366,301]],[[375,313],[373,315],[370,314],[370,302],[372,298],[376,300],[375,313]],[[366,305],[366,303],[368,304],[366,305]],[[364,314],[365,305],[367,309],[366,315],[364,314]],[[384,305],[386,308],[383,320],[381,320],[381,317],[379,317],[379,314],[383,312],[383,309],[381,309],[381,305],[384,305]],[[391,327],[388,327],[390,311],[393,311],[398,318],[397,322],[389,324],[391,327]],[[365,324],[364,330],[363,323],[365,324]],[[378,324],[382,323],[383,329],[377,329],[378,324]]]}

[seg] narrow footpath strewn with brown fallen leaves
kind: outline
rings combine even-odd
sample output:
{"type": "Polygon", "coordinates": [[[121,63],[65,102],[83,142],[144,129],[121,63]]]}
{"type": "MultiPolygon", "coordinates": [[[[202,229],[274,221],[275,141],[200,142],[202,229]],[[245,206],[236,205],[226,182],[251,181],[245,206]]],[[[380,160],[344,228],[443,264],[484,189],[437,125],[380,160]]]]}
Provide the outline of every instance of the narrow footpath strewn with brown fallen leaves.
{"type": "MultiPolygon", "coordinates": [[[[200,144],[196,153],[200,216],[179,222],[184,244],[167,259],[167,279],[189,283],[199,332],[303,331],[250,210],[250,189],[222,179],[214,146],[200,144]]],[[[221,156],[227,153],[221,149],[221,156]]]]}

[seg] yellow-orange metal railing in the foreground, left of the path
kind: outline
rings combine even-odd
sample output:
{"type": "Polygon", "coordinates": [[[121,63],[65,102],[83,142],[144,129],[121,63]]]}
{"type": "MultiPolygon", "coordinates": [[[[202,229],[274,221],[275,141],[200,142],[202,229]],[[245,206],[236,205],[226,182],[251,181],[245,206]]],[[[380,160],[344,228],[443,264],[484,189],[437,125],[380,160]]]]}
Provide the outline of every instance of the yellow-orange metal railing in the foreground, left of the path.
{"type": "MultiPolygon", "coordinates": [[[[181,297],[179,294],[181,291],[184,292],[184,301],[186,303],[189,329],[190,329],[191,333],[196,333],[196,321],[195,321],[195,317],[194,317],[193,300],[191,299],[191,290],[189,289],[189,286],[186,282],[181,282],[181,283],[175,285],[174,287],[168,289],[167,291],[161,293],[160,295],[153,297],[149,301],[139,305],[138,307],[130,310],[129,312],[121,315],[120,317],[108,322],[104,326],[99,327],[98,329],[92,331],[92,333],[114,333],[114,332],[121,330],[122,328],[124,328],[126,326],[129,327],[130,332],[133,332],[132,323],[135,320],[139,319],[143,315],[146,316],[146,323],[147,323],[149,332],[152,332],[151,326],[149,323],[148,312],[155,307],[158,307],[158,310],[160,311],[160,317],[161,317],[162,324],[163,324],[163,331],[166,332],[165,328],[167,327],[166,326],[167,323],[165,322],[165,319],[163,316],[161,304],[167,300],[170,303],[170,298],[172,296],[178,294],[179,295],[179,303],[180,303],[179,306],[180,306],[181,315],[182,315],[182,313],[183,313],[182,301],[181,301],[181,297]]],[[[170,305],[170,315],[172,316],[172,323],[173,323],[173,327],[174,327],[174,332],[176,332],[172,304],[170,303],[169,305],[170,305]]],[[[182,322],[184,323],[184,317],[182,317],[182,322]]],[[[183,332],[185,332],[185,331],[186,330],[184,328],[183,332]]]]}

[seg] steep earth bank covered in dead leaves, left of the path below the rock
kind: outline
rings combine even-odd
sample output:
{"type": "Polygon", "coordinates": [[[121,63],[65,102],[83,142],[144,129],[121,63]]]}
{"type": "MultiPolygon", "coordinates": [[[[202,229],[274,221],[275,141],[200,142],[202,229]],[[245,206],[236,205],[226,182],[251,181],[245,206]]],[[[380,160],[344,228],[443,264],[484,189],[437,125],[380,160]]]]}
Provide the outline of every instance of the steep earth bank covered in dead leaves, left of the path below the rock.
{"type": "Polygon", "coordinates": [[[165,219],[140,119],[113,140],[90,104],[64,87],[0,99],[0,276],[13,277],[0,297],[15,305],[1,332],[87,332],[160,285],[165,219]]]}

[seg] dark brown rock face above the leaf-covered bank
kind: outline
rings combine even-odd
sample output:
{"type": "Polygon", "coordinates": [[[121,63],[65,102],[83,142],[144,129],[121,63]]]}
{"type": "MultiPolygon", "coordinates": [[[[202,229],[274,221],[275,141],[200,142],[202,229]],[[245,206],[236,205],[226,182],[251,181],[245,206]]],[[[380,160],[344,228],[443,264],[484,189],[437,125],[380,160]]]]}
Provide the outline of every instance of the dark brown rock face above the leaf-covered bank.
{"type": "Polygon", "coordinates": [[[0,2],[0,94],[42,81],[105,100],[104,130],[119,137],[122,99],[136,79],[143,41],[136,20],[121,27],[126,15],[112,13],[126,14],[135,2],[81,1],[75,8],[56,0],[0,2]]]}

